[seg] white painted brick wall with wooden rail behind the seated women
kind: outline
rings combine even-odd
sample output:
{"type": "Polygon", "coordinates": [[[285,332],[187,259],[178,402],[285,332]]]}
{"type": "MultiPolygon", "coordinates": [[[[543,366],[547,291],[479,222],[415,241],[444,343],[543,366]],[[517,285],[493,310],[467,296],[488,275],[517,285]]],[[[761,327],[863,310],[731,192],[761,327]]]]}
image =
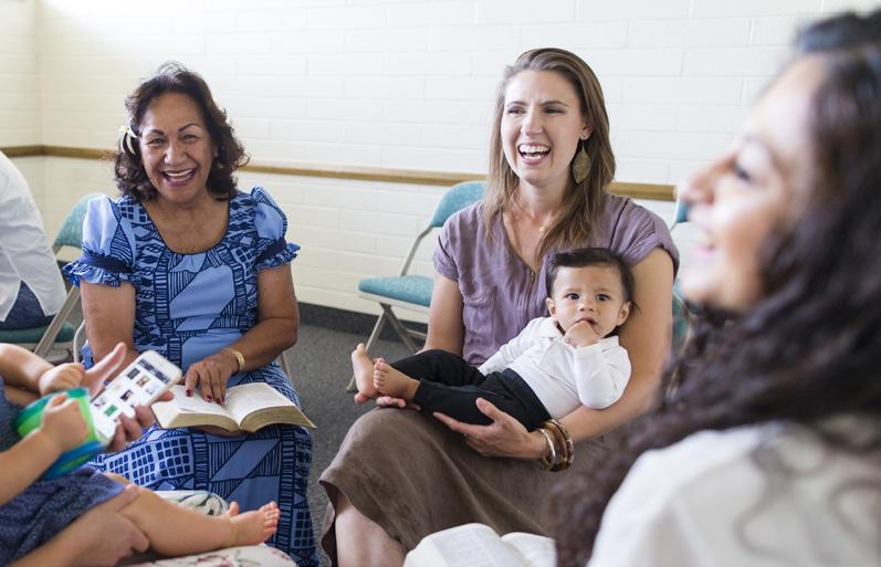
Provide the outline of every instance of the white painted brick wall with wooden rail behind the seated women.
{"type": "MultiPolygon", "coordinates": [[[[483,172],[492,98],[522,51],[579,53],[604,85],[622,181],[674,183],[736,132],[796,28],[878,0],[0,0],[0,146],[108,148],[123,98],[162,61],[200,72],[255,162],[483,172]],[[172,14],[172,15],[166,15],[172,14]]],[[[53,234],[106,162],[18,160],[53,234]]],[[[375,311],[443,189],[242,174],[303,244],[303,301],[375,311]]],[[[672,204],[647,203],[669,218],[672,204]]],[[[691,235],[677,229],[688,265],[691,235]]],[[[431,273],[432,242],[416,269],[431,273]]]]}

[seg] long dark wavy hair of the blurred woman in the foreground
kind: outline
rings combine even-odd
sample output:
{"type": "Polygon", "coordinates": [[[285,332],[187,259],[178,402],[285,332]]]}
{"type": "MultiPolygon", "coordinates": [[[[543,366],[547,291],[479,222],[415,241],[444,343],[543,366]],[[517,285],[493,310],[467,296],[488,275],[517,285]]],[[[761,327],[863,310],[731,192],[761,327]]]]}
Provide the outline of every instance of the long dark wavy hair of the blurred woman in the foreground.
{"type": "Polygon", "coordinates": [[[797,46],[824,69],[808,125],[805,161],[817,178],[806,211],[763,245],[763,300],[737,317],[707,308],[664,371],[661,391],[675,376],[675,393],[633,424],[623,450],[556,492],[560,566],[588,560],[609,500],[647,450],[773,420],[866,450],[822,422],[881,414],[881,11],[816,23],[797,46]]]}

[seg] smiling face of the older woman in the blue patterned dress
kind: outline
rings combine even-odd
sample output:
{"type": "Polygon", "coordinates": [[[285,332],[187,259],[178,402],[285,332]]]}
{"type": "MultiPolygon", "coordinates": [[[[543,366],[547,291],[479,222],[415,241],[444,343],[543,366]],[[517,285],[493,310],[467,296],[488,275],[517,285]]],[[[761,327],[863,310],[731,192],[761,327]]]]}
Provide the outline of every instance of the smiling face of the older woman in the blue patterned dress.
{"type": "Polygon", "coordinates": [[[157,198],[187,203],[209,195],[217,149],[192,98],[179,93],[157,96],[144,113],[138,143],[157,198]]]}

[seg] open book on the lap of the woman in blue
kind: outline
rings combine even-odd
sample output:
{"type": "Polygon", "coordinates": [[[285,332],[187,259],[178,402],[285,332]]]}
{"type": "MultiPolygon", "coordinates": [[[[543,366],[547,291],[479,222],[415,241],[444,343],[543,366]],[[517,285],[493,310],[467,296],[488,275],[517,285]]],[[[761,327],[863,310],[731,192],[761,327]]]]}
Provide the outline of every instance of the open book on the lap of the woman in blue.
{"type": "Polygon", "coordinates": [[[303,411],[263,382],[242,384],[227,390],[223,405],[187,397],[183,386],[172,386],[175,399],[153,405],[159,427],[165,429],[216,426],[228,431],[243,429],[253,433],[270,423],[290,423],[314,428],[303,411]]]}

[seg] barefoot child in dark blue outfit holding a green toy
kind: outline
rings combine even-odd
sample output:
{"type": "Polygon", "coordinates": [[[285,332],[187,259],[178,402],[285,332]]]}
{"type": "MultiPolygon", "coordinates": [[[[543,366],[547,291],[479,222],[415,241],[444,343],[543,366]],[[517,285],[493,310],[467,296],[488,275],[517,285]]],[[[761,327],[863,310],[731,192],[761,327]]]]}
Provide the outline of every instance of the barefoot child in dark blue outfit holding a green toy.
{"type": "MultiPolygon", "coordinates": [[[[40,479],[59,455],[85,440],[86,421],[76,400],[59,393],[46,403],[40,427],[19,439],[12,421],[20,408],[8,400],[7,388],[46,395],[102,384],[124,356],[125,346],[119,344],[104,360],[84,370],[78,364],[52,367],[29,350],[0,344],[0,565],[28,555],[128,484],[122,476],[101,474],[88,466],[52,480],[40,479]]],[[[275,533],[279,523],[274,502],[241,514],[233,502],[227,514],[207,516],[148,490],[140,490],[120,513],[144,533],[154,552],[170,556],[260,544],[275,533]]]]}

